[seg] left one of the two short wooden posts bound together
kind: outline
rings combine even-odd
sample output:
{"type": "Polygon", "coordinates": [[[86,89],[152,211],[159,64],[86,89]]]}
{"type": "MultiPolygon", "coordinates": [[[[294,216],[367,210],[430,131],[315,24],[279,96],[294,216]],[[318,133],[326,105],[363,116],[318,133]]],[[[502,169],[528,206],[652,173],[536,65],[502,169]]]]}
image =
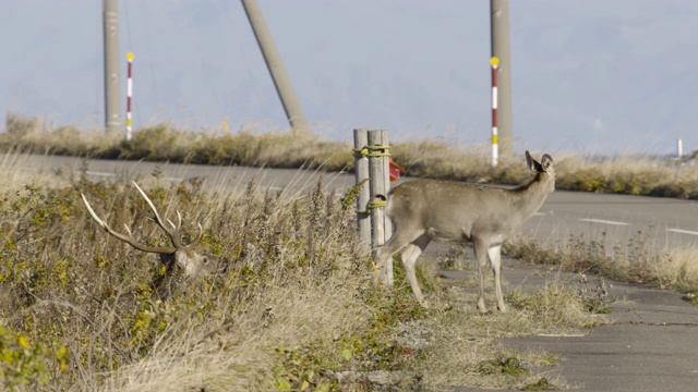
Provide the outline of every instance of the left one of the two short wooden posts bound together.
{"type": "Polygon", "coordinates": [[[368,130],[353,130],[354,172],[357,185],[361,184],[357,197],[357,221],[359,224],[359,241],[361,253],[368,254],[371,248],[371,220],[369,215],[369,201],[371,200],[369,180],[369,158],[366,146],[369,145],[368,130]]]}

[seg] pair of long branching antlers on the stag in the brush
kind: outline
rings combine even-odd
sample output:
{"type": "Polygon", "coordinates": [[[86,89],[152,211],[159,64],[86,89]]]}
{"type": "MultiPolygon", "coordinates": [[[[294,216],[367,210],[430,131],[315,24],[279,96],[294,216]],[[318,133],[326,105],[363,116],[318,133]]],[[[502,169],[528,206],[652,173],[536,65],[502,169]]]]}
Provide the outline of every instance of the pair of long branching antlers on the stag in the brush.
{"type": "Polygon", "coordinates": [[[144,213],[145,217],[148,218],[149,220],[154,221],[155,223],[157,223],[157,225],[159,225],[163,230],[165,230],[167,235],[170,237],[172,246],[148,246],[148,245],[142,244],[142,243],[137,242],[131,235],[131,229],[129,229],[129,226],[125,225],[125,224],[124,224],[124,226],[127,229],[127,232],[129,232],[129,235],[121,234],[121,233],[115,231],[113,229],[111,229],[107,224],[107,222],[105,222],[103,219],[100,219],[97,216],[97,213],[95,213],[95,210],[92,208],[92,206],[87,201],[87,198],[85,197],[85,195],[81,194],[81,196],[83,197],[83,203],[85,204],[85,207],[87,208],[87,212],[89,212],[89,216],[92,217],[92,219],[94,219],[95,222],[97,222],[97,224],[99,224],[99,226],[101,229],[104,229],[104,231],[106,231],[107,233],[113,235],[115,237],[125,242],[127,244],[133,246],[134,248],[136,248],[139,250],[148,252],[148,253],[173,254],[177,249],[190,248],[190,247],[193,247],[194,245],[196,245],[196,243],[198,243],[198,241],[201,240],[201,236],[203,234],[203,230],[204,230],[202,228],[201,223],[198,223],[198,235],[196,236],[196,238],[194,238],[194,241],[192,241],[190,244],[184,245],[184,243],[182,242],[182,235],[181,235],[181,231],[180,231],[181,226],[182,226],[182,216],[181,216],[181,213],[179,213],[179,211],[177,211],[178,224],[176,225],[174,223],[172,223],[172,221],[170,221],[168,219],[167,222],[169,223],[169,225],[171,228],[168,226],[167,224],[165,224],[165,221],[163,221],[163,219],[160,218],[160,215],[158,213],[157,208],[155,208],[155,205],[153,204],[151,198],[145,194],[145,192],[143,192],[143,189],[141,189],[139,184],[136,184],[135,182],[133,182],[133,185],[135,185],[135,188],[139,189],[139,193],[141,194],[141,196],[143,196],[145,201],[148,204],[148,206],[153,210],[154,216],[148,216],[148,215],[144,213]]]}

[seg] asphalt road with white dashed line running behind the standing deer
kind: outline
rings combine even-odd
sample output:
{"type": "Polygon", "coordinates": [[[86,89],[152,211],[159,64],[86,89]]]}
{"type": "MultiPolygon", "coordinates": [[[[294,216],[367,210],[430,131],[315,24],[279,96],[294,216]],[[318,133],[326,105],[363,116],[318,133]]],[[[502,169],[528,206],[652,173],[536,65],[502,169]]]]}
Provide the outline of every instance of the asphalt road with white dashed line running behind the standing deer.
{"type": "MultiPolygon", "coordinates": [[[[151,176],[155,168],[165,180],[204,177],[210,188],[243,189],[254,179],[261,186],[286,192],[306,192],[315,186],[320,172],[297,169],[255,169],[168,164],[141,161],[84,160],[52,156],[0,156],[0,171],[52,174],[86,170],[94,179],[151,176]]],[[[401,179],[400,181],[409,181],[401,179]]],[[[524,179],[522,179],[524,181],[524,179]]],[[[353,174],[325,173],[328,187],[345,191],[353,174]]],[[[570,237],[599,241],[606,246],[639,243],[650,253],[667,247],[695,246],[698,242],[698,201],[672,198],[603,195],[557,191],[529,219],[521,234],[541,242],[561,243],[570,237]]]]}

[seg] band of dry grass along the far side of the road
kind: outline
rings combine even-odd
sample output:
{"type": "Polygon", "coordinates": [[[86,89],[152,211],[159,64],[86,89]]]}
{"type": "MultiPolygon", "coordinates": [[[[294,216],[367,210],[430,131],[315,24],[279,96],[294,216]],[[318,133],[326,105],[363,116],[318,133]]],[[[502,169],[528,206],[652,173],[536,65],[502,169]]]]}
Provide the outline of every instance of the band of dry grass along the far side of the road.
{"type": "MultiPolygon", "coordinates": [[[[145,159],[204,164],[351,170],[351,147],[317,137],[260,132],[255,124],[232,134],[178,131],[171,124],[137,130],[131,142],[104,137],[73,126],[53,127],[40,118],[9,114],[0,151],[24,151],[111,159],[145,159]]],[[[453,147],[429,139],[395,143],[393,158],[407,175],[493,184],[517,184],[527,175],[524,158],[502,157],[490,164],[484,146],[453,147]]],[[[545,151],[534,151],[542,154],[545,151]]],[[[551,151],[547,151],[551,152],[551,151]]],[[[694,154],[695,158],[697,155],[694,154]]],[[[672,161],[649,156],[612,158],[554,154],[559,189],[698,198],[695,160],[672,161]]]]}

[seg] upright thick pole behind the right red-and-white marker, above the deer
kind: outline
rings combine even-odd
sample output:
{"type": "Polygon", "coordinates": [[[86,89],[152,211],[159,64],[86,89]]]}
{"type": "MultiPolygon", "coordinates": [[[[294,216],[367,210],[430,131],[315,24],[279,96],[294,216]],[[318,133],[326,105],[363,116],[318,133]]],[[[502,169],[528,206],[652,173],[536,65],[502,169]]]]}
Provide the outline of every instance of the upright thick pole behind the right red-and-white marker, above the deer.
{"type": "Polygon", "coordinates": [[[510,156],[512,138],[512,57],[509,53],[509,0],[490,0],[492,58],[497,66],[497,132],[500,152],[510,156]]]}

